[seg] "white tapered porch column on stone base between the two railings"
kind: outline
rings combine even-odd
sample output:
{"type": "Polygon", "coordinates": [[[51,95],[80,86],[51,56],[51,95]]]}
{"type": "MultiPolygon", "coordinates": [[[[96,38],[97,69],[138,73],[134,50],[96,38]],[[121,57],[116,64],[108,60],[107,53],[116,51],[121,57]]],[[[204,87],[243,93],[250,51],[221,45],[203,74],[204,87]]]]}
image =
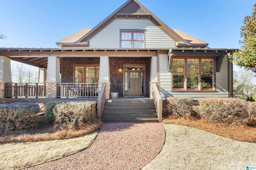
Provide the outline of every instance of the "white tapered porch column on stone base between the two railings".
{"type": "Polygon", "coordinates": [[[60,82],[60,58],[48,57],[46,98],[57,98],[58,82],[60,82]]]}

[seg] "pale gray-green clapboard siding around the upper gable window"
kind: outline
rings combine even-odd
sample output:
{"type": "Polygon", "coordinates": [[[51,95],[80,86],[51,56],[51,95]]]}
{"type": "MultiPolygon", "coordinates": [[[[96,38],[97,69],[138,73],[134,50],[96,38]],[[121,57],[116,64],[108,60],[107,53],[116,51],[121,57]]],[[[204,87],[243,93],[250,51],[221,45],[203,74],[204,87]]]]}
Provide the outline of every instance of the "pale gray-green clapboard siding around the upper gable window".
{"type": "Polygon", "coordinates": [[[120,29],[145,30],[145,48],[168,49],[175,42],[150,20],[116,19],[90,39],[90,48],[120,48],[120,29]]]}

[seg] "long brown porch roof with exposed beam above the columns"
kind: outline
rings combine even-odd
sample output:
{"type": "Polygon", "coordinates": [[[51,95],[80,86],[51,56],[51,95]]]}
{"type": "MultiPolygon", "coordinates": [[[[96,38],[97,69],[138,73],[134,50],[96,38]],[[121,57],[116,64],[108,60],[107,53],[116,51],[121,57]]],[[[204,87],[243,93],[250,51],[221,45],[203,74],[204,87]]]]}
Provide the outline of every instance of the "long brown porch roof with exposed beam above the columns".
{"type": "Polygon", "coordinates": [[[60,57],[61,68],[62,57],[152,57],[159,51],[169,49],[0,48],[0,56],[40,68],[47,68],[48,57],[56,56],[60,57]]]}

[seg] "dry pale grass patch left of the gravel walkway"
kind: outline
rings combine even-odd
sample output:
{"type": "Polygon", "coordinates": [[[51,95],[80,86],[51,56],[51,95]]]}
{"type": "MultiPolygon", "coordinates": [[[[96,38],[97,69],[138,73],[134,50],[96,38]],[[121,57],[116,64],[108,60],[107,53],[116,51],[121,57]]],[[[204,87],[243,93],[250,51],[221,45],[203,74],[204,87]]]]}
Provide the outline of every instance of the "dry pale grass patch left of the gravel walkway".
{"type": "Polygon", "coordinates": [[[56,160],[89,147],[98,131],[83,137],[44,142],[0,144],[0,169],[13,170],[56,160]]]}

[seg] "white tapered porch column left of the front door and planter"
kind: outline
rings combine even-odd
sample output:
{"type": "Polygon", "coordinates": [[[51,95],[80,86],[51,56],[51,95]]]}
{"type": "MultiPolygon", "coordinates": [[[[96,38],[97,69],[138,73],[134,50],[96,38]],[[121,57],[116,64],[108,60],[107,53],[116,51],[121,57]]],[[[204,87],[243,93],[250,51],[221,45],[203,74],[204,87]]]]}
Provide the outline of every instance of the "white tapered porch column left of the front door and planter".
{"type": "Polygon", "coordinates": [[[106,99],[110,95],[110,74],[109,74],[109,59],[108,56],[100,56],[100,77],[99,77],[99,92],[102,89],[102,84],[106,83],[106,99]]]}

